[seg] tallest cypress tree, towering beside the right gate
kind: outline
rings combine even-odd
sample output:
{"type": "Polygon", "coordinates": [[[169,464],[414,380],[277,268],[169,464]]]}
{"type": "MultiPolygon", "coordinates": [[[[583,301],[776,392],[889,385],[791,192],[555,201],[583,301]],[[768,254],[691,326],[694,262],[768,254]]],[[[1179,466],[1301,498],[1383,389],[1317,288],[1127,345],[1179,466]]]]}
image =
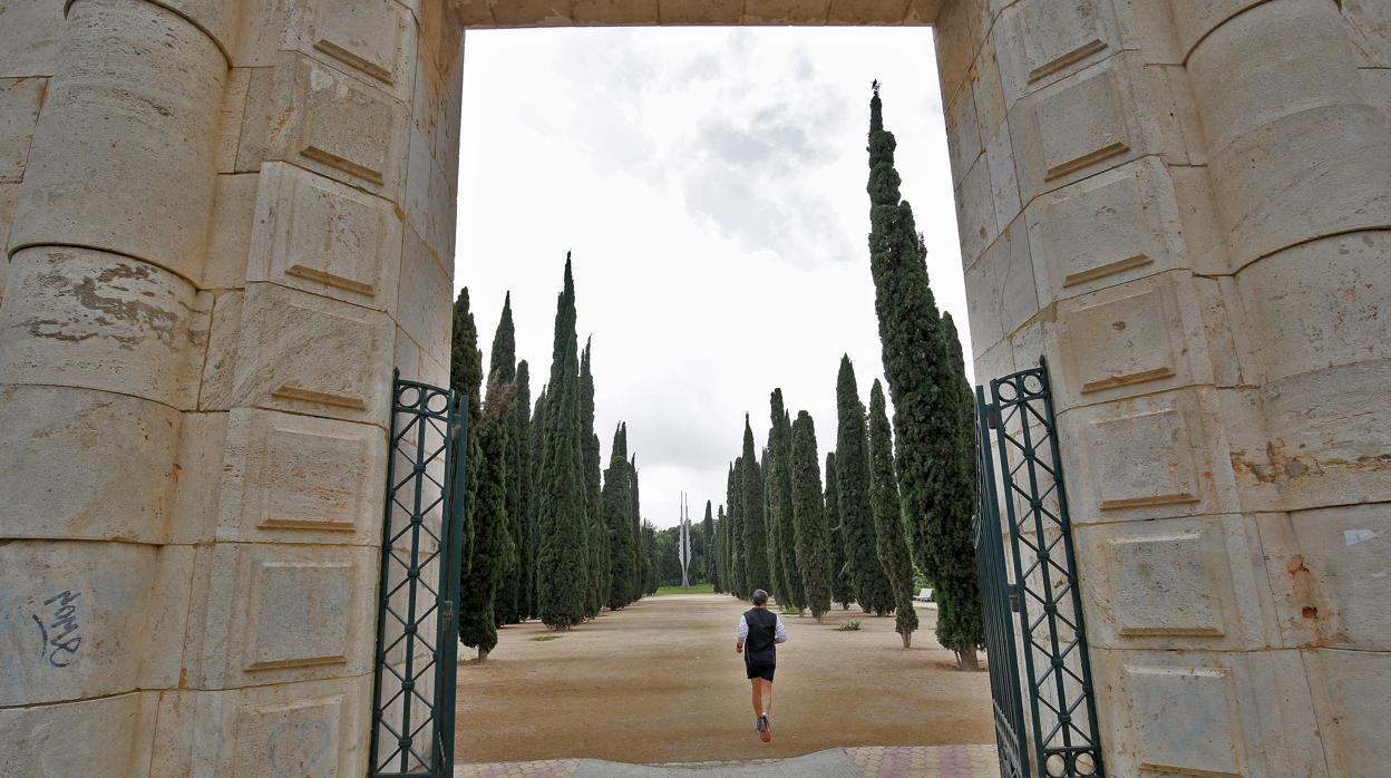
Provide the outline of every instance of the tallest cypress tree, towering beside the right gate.
{"type": "Polygon", "coordinates": [[[968,541],[971,514],[961,509],[965,501],[956,497],[974,490],[975,479],[947,483],[957,482],[958,473],[967,470],[947,465],[960,457],[960,390],[928,284],[926,249],[912,207],[899,195],[894,148],[893,134],[883,128],[883,104],[875,82],[869,102],[869,269],[894,409],[894,465],[903,515],[911,530],[914,557],[933,579],[940,597],[938,640],[956,651],[964,667],[975,669],[976,649],[985,640],[978,583],[974,575],[956,573],[975,569],[975,550],[968,541]]]}

